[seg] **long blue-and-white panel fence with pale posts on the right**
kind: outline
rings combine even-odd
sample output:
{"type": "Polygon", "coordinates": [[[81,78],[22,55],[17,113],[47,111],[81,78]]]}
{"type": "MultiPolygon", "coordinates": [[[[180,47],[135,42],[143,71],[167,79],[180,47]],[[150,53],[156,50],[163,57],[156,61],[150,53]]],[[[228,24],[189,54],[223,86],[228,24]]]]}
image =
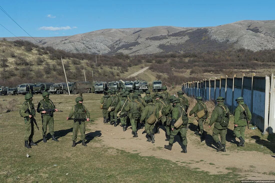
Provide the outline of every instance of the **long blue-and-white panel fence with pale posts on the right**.
{"type": "Polygon", "coordinates": [[[215,100],[222,96],[231,113],[237,107],[235,99],[243,97],[252,114],[252,124],[263,132],[275,133],[275,77],[255,76],[241,78],[220,77],[182,84],[182,91],[188,96],[201,96],[204,100],[215,100]]]}

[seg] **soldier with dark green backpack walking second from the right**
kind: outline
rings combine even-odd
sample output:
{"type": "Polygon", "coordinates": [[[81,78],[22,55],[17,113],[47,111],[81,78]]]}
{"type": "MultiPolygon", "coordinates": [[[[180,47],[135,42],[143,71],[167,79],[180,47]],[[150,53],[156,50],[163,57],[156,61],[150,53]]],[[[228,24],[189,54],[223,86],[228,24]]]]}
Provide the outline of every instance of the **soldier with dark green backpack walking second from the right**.
{"type": "Polygon", "coordinates": [[[219,151],[226,152],[225,143],[226,143],[227,128],[229,124],[230,111],[228,107],[224,105],[223,97],[218,97],[216,99],[216,102],[218,104],[212,112],[208,127],[211,128],[211,126],[215,123],[212,136],[219,146],[217,152],[219,151]],[[219,134],[221,135],[221,141],[219,140],[219,136],[218,136],[219,134]]]}

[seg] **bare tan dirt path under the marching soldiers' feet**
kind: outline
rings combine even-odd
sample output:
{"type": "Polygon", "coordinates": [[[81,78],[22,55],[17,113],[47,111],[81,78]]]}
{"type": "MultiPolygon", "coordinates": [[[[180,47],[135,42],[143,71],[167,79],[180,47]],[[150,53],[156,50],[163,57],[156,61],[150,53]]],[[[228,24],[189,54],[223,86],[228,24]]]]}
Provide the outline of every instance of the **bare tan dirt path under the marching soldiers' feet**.
{"type": "MultiPolygon", "coordinates": [[[[263,154],[257,151],[230,151],[216,152],[215,149],[208,147],[200,142],[198,136],[188,130],[187,154],[181,153],[182,150],[179,138],[176,136],[176,142],[172,151],[164,149],[168,144],[165,139],[165,132],[160,129],[160,134],[155,134],[155,143],[146,142],[143,129],[138,130],[138,138],[131,135],[131,127],[123,132],[122,127],[103,124],[103,118],[98,119],[95,125],[87,125],[91,131],[100,130],[101,136],[98,137],[107,146],[122,149],[131,153],[139,153],[142,156],[155,156],[157,158],[172,160],[180,165],[190,168],[199,168],[198,170],[209,171],[211,174],[227,173],[230,170],[226,168],[238,168],[239,174],[246,176],[246,179],[274,180],[275,176],[263,174],[264,172],[274,171],[275,158],[270,154],[263,154]]],[[[228,142],[227,142],[228,143],[228,142]]]]}

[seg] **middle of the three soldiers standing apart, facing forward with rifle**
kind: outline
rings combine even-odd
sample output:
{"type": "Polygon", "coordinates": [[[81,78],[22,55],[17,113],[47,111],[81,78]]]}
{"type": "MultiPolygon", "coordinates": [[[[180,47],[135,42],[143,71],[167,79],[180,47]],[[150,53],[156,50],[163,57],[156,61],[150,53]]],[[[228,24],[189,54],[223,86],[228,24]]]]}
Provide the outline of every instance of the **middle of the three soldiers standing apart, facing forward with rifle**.
{"type": "Polygon", "coordinates": [[[54,103],[49,99],[50,93],[49,92],[43,92],[42,94],[43,99],[40,100],[40,102],[37,105],[37,112],[41,113],[42,118],[42,136],[43,136],[43,142],[47,142],[46,140],[46,132],[47,132],[47,126],[49,125],[49,131],[52,136],[52,140],[59,141],[54,136],[54,119],[53,119],[53,112],[47,112],[43,111],[43,109],[54,109],[54,112],[57,112],[58,109],[55,107],[54,103]]]}

